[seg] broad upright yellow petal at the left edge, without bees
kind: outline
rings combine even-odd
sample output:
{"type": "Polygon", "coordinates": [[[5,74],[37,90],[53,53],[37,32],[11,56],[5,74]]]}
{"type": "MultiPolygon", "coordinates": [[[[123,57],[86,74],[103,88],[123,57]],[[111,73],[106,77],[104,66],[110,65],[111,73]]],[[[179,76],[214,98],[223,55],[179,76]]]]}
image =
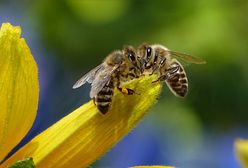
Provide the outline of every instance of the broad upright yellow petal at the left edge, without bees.
{"type": "Polygon", "coordinates": [[[0,161],[31,128],[38,104],[37,65],[20,27],[0,30],[0,161]]]}

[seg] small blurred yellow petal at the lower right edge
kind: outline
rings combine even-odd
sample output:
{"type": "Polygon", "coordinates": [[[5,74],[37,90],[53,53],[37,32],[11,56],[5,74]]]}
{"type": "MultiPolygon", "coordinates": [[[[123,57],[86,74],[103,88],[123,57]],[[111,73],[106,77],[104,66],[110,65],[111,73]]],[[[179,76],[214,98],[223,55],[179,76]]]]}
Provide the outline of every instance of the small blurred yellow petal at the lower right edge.
{"type": "Polygon", "coordinates": [[[248,167],[248,140],[237,139],[235,141],[236,156],[243,167],[248,167]]]}

